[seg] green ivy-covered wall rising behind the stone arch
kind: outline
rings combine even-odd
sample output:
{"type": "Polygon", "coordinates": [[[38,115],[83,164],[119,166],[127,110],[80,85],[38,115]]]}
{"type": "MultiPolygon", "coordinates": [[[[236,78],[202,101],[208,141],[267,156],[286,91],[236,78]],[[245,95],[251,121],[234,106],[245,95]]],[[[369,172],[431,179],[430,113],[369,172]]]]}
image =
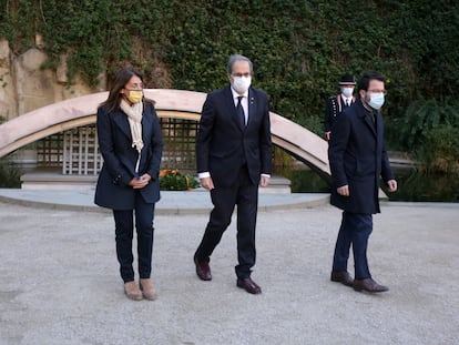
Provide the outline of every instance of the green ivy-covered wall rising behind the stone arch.
{"type": "MultiPolygon", "coordinates": [[[[395,148],[410,104],[459,109],[459,4],[426,0],[1,0],[0,38],[20,54],[40,33],[55,68],[68,54],[95,84],[132,64],[149,87],[210,91],[224,85],[226,60],[254,62],[254,84],[273,111],[322,133],[325,100],[345,72],[387,77],[386,121],[395,148]],[[166,75],[166,77],[164,77],[166,75]]],[[[456,118],[458,113],[456,114],[456,118]]],[[[459,126],[459,120],[453,124],[459,126]]],[[[416,135],[417,133],[412,133],[416,135]]],[[[405,145],[405,146],[404,146],[405,145]]]]}

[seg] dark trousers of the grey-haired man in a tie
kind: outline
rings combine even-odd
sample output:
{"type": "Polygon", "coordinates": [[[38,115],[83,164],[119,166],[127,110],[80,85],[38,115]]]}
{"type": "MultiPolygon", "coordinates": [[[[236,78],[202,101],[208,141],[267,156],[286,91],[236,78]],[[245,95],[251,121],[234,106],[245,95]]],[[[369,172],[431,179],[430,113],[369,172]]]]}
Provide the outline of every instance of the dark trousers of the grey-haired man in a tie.
{"type": "Polygon", "coordinates": [[[251,268],[255,265],[255,226],[258,207],[258,185],[253,184],[244,165],[234,185],[228,187],[216,186],[211,191],[214,209],[204,232],[204,236],[196,250],[196,257],[201,262],[210,261],[212,253],[222,240],[222,235],[231,223],[233,211],[237,205],[237,261],[235,266],[237,277],[251,276],[251,268]]]}

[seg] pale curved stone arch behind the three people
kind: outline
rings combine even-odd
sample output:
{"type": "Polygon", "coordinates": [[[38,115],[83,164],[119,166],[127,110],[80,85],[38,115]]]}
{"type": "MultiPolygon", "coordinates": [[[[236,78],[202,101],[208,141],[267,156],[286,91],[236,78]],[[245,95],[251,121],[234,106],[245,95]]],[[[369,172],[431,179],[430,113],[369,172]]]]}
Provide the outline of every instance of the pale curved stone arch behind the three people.
{"type": "MultiPolygon", "coordinates": [[[[155,100],[160,118],[198,121],[206,93],[145,89],[145,97],[155,100]]],[[[50,104],[14,118],[0,125],[0,158],[29,143],[70,129],[94,124],[95,111],[108,92],[88,94],[50,104]]],[[[329,180],[327,143],[305,128],[271,113],[273,143],[329,180]]]]}

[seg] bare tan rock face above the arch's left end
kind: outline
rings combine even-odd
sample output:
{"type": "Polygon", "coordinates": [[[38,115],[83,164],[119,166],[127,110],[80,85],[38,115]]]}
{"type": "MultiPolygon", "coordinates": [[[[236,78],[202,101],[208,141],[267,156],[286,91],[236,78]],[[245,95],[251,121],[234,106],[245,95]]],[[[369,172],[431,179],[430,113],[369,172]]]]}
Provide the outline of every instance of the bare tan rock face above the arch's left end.
{"type": "MultiPolygon", "coordinates": [[[[37,47],[41,47],[38,43],[37,47]]],[[[14,55],[9,42],[0,40],[0,122],[48,104],[105,90],[102,74],[95,88],[89,88],[78,77],[69,84],[65,55],[61,57],[55,71],[41,68],[45,60],[47,54],[40,48],[14,55]]]]}

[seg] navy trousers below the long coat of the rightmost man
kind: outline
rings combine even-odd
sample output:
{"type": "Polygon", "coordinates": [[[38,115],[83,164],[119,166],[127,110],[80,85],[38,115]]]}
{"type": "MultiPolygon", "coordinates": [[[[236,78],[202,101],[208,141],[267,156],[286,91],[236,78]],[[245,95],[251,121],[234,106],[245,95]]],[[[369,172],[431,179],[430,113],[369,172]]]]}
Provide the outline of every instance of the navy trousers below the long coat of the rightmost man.
{"type": "Polygon", "coordinates": [[[341,226],[336,240],[334,271],[346,271],[350,245],[353,246],[355,278],[371,277],[368,268],[367,247],[373,232],[371,214],[343,212],[341,226]]]}

